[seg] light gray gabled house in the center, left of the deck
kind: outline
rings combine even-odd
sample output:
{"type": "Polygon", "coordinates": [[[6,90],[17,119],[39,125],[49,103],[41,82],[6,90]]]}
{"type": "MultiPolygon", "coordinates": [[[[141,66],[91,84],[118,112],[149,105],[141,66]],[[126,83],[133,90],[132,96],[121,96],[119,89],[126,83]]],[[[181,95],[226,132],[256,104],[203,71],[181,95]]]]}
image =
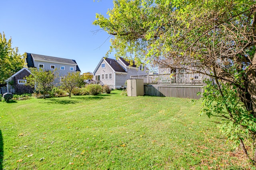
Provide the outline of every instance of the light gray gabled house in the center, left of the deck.
{"type": "Polygon", "coordinates": [[[118,60],[102,58],[96,66],[94,72],[94,80],[100,80],[104,85],[111,88],[123,88],[124,83],[132,75],[148,75],[146,66],[136,66],[134,61],[129,63],[123,58],[118,60]]]}

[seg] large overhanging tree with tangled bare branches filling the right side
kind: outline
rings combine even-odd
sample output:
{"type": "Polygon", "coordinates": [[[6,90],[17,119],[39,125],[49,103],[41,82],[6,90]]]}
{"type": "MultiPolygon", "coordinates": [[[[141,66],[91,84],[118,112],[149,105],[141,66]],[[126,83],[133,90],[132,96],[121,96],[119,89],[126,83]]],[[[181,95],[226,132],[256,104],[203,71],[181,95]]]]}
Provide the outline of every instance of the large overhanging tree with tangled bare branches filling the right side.
{"type": "Polygon", "coordinates": [[[115,49],[116,57],[132,56],[178,69],[186,66],[214,78],[216,84],[206,88],[203,111],[226,118],[224,133],[239,141],[248,155],[243,140],[256,136],[256,1],[113,3],[108,18],[96,14],[94,21],[112,35],[108,53],[115,49]]]}

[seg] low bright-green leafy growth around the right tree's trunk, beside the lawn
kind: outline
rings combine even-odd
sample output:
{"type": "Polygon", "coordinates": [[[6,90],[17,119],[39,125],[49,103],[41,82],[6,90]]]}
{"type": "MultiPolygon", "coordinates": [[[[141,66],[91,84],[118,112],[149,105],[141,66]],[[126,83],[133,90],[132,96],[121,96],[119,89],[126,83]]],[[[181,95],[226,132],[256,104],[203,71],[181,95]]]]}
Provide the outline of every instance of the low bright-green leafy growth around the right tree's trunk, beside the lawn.
{"type": "Polygon", "coordinates": [[[240,139],[252,139],[252,134],[256,132],[256,118],[240,101],[234,86],[220,82],[220,87],[221,90],[216,84],[208,82],[203,93],[201,114],[211,117],[217,113],[226,118],[220,129],[228,139],[235,142],[234,147],[238,147],[240,139]]]}

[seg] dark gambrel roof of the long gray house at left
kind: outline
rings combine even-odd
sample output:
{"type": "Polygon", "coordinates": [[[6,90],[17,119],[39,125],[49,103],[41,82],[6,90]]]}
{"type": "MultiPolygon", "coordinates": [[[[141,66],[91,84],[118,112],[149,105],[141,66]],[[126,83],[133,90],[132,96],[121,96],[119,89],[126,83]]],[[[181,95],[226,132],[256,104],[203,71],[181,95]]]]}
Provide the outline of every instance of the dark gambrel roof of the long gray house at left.
{"type": "Polygon", "coordinates": [[[29,68],[35,67],[33,59],[34,59],[34,61],[73,64],[73,65],[76,65],[76,71],[80,71],[80,68],[78,67],[75,60],[64,59],[64,58],[59,58],[59,57],[52,57],[52,56],[47,56],[47,55],[32,54],[32,53],[27,53],[26,62],[28,64],[29,68]]]}

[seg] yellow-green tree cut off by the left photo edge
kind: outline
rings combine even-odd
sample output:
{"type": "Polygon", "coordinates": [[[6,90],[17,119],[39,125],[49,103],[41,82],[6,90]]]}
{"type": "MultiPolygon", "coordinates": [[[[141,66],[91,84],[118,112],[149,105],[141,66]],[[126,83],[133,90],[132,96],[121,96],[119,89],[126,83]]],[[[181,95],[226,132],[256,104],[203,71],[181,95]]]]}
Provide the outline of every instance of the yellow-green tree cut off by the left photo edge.
{"type": "Polygon", "coordinates": [[[18,52],[18,47],[12,48],[12,39],[7,41],[5,34],[0,33],[0,84],[24,67],[26,53],[18,52]]]}

